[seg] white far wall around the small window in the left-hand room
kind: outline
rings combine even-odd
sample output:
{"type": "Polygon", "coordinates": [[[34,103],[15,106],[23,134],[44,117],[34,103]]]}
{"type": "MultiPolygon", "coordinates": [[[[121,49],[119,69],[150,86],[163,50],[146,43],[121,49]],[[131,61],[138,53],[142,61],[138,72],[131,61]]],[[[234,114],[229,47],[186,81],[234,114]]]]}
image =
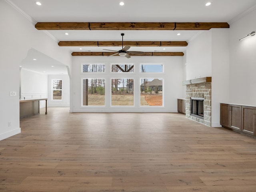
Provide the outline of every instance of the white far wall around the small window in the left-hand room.
{"type": "Polygon", "coordinates": [[[48,106],[69,107],[70,81],[67,74],[48,75],[48,106]],[[52,100],[52,80],[62,80],[62,100],[52,100]]]}

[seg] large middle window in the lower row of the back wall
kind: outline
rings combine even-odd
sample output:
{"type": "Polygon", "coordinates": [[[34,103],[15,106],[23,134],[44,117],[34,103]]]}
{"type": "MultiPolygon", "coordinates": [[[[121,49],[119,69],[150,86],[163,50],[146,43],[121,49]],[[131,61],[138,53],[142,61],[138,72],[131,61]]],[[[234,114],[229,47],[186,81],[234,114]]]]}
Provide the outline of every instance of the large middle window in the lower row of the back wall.
{"type": "Polygon", "coordinates": [[[111,80],[111,105],[134,106],[134,80],[128,78],[111,80]]]}

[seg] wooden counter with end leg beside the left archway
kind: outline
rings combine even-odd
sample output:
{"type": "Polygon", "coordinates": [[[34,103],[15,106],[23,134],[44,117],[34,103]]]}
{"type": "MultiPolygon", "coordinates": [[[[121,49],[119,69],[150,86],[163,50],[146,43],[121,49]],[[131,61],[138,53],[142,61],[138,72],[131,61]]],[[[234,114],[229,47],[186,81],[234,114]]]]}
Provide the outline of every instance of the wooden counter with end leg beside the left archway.
{"type": "Polygon", "coordinates": [[[40,114],[41,100],[45,100],[45,114],[47,114],[47,98],[20,100],[20,119],[40,114]]]}

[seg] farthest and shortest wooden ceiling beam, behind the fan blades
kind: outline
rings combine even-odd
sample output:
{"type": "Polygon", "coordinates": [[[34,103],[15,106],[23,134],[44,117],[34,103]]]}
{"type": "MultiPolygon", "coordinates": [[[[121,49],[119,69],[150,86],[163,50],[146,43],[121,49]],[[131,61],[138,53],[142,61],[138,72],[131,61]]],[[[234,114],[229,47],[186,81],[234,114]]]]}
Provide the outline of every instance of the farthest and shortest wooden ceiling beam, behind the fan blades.
{"type": "MultiPolygon", "coordinates": [[[[72,56],[110,56],[116,52],[72,52],[72,56]]],[[[184,56],[183,52],[144,52],[143,54],[132,54],[130,56],[184,56]]],[[[118,55],[114,55],[118,56],[118,55]]]]}

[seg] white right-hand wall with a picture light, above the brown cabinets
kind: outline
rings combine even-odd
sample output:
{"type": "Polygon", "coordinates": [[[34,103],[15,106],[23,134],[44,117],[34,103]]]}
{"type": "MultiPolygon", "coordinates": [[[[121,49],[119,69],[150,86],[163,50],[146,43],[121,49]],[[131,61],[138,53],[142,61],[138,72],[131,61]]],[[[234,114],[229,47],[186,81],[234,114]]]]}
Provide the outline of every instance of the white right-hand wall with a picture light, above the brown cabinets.
{"type": "Polygon", "coordinates": [[[231,103],[256,105],[256,36],[239,41],[256,31],[256,9],[230,24],[231,103]]]}

